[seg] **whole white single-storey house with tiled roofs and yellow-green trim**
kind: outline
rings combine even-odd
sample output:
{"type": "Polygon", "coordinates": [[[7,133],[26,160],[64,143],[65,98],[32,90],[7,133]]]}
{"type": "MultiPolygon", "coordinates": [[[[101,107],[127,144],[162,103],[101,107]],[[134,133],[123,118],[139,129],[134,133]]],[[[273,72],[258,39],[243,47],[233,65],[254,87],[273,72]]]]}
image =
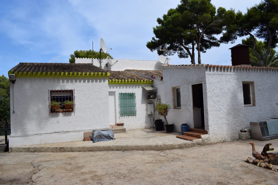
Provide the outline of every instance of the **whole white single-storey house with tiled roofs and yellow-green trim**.
{"type": "Polygon", "coordinates": [[[158,61],[99,59],[70,63],[19,63],[9,71],[9,147],[83,140],[83,133],[124,123],[148,127],[154,109],[148,92],[173,107],[167,120],[207,130],[211,142],[238,139],[249,122],[278,116],[278,68],[249,65],[165,65],[158,61]],[[152,87],[152,88],[148,88],[152,87]],[[150,90],[149,90],[150,89],[150,90]],[[12,96],[11,96],[12,97],[12,96]],[[52,101],[73,101],[73,107],[52,101]]]}

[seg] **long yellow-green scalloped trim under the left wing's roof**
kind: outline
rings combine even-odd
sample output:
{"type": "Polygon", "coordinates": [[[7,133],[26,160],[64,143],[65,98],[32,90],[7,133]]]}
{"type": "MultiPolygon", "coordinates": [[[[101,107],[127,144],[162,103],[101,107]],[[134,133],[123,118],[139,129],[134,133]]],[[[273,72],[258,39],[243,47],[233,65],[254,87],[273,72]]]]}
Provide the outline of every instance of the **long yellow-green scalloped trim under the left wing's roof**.
{"type": "MultiPolygon", "coordinates": [[[[11,71],[9,71],[8,72],[8,74],[11,74],[12,72],[11,71]]],[[[38,72],[38,73],[36,73],[36,72],[33,72],[33,73],[31,73],[31,72],[14,72],[14,74],[17,76],[17,77],[110,77],[110,73],[109,72],[107,72],[107,73],[105,73],[105,72],[95,72],[95,73],[93,73],[93,72],[91,72],[91,73],[89,73],[89,72],[87,72],[87,73],[85,73],[85,72],[83,72],[83,73],[81,73],[81,72],[52,72],[52,73],[50,73],[50,72],[38,72]]]]}

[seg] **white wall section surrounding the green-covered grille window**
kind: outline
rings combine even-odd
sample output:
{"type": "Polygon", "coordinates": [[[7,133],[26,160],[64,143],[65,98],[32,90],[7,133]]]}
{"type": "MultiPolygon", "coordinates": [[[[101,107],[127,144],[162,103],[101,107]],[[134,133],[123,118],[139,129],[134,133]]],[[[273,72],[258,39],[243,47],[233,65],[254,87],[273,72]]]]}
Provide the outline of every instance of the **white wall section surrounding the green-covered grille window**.
{"type": "Polygon", "coordinates": [[[126,130],[145,128],[150,123],[150,116],[147,114],[147,93],[143,86],[151,84],[109,84],[109,92],[115,92],[116,122],[124,123],[126,130]],[[119,93],[135,93],[136,95],[136,116],[120,116],[119,114],[119,93]]]}

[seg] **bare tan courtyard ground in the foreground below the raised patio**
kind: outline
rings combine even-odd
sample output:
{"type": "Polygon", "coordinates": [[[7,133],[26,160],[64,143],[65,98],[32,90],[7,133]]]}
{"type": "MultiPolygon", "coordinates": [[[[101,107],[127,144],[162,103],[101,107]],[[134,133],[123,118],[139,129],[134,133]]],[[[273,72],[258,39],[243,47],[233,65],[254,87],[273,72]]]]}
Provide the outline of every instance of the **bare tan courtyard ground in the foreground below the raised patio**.
{"type": "Polygon", "coordinates": [[[163,151],[0,153],[0,184],[277,185],[278,172],[245,162],[250,141],[259,152],[269,142],[278,151],[275,139],[163,151]]]}

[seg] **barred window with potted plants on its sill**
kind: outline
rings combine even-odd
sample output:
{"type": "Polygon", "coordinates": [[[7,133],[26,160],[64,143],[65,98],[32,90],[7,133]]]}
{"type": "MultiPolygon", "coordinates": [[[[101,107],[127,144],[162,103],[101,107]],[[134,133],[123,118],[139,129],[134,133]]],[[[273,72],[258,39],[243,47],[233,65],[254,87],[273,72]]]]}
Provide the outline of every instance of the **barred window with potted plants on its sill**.
{"type": "Polygon", "coordinates": [[[74,112],[74,89],[49,90],[49,113],[74,112]]]}

